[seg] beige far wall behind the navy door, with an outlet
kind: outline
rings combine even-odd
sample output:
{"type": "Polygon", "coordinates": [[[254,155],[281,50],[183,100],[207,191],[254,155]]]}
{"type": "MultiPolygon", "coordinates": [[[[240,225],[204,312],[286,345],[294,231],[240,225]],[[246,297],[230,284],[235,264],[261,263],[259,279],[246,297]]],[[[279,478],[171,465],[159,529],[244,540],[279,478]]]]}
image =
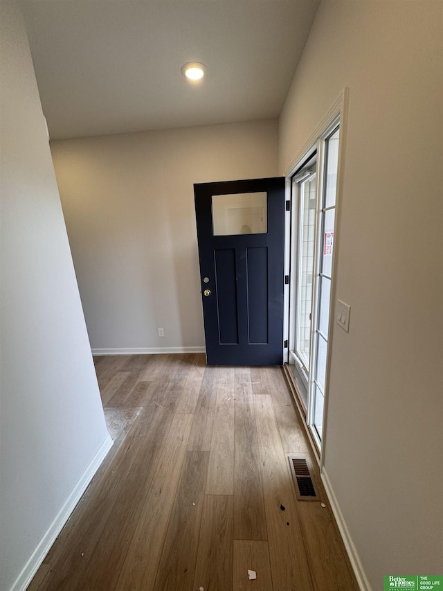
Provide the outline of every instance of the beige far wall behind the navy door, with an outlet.
{"type": "Polygon", "coordinates": [[[54,141],[51,150],[93,349],[204,347],[193,184],[275,176],[278,122],[54,141]]]}

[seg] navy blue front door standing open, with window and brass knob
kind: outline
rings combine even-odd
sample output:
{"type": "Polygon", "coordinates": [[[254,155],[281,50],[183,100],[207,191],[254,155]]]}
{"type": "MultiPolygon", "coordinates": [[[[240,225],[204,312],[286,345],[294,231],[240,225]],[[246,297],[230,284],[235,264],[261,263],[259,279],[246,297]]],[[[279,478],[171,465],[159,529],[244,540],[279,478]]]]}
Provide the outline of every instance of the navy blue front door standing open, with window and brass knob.
{"type": "Polygon", "coordinates": [[[208,364],[282,364],[284,187],[194,185],[208,364]]]}

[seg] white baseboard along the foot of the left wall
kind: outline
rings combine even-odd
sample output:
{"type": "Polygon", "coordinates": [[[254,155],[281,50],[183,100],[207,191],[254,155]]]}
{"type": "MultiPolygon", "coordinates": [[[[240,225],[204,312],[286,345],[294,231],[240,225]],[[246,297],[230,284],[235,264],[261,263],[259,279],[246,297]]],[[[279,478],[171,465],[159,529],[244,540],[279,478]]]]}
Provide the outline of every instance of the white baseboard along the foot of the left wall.
{"type": "Polygon", "coordinates": [[[66,499],[66,502],[60,509],[58,515],[55,517],[51,525],[49,526],[48,530],[44,534],[42,540],[40,540],[39,544],[35,548],[33,554],[30,556],[28,562],[24,566],[23,570],[17,579],[15,579],[14,584],[10,588],[10,591],[25,591],[28,587],[30,581],[32,581],[33,576],[39,569],[39,566],[44,561],[44,557],[48,554],[51,546],[55,542],[60,531],[62,531],[64,524],[69,519],[69,516],[75,509],[75,506],[78,504],[80,499],[83,496],[84,491],[86,491],[88,484],[91,482],[93,475],[97,472],[100,464],[107,456],[107,452],[113,446],[114,441],[112,441],[111,436],[107,436],[107,439],[103,441],[102,445],[100,446],[99,450],[94,455],[93,459],[89,462],[86,470],[80,477],[80,480],[75,485],[73,491],[66,499]]]}

